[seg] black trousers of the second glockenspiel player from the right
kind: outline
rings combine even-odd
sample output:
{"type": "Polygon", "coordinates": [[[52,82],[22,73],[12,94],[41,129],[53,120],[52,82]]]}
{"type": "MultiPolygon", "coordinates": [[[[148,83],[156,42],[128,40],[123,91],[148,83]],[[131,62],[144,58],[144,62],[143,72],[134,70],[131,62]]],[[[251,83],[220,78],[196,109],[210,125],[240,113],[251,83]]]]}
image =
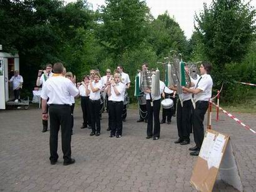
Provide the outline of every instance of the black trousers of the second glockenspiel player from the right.
{"type": "Polygon", "coordinates": [[[182,141],[190,141],[190,128],[191,128],[191,108],[192,101],[189,99],[183,101],[183,107],[180,99],[177,104],[177,128],[178,136],[182,141]]]}

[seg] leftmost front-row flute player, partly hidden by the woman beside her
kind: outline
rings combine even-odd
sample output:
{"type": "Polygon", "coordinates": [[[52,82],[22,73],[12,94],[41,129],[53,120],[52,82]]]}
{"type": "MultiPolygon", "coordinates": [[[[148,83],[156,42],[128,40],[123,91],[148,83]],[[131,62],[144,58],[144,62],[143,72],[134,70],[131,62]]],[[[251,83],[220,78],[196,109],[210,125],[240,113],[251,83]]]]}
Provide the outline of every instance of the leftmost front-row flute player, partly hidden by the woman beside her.
{"type": "Polygon", "coordinates": [[[81,126],[81,129],[84,128],[91,128],[91,114],[90,114],[90,100],[89,95],[86,96],[86,89],[88,89],[90,81],[90,76],[84,76],[83,81],[81,82],[81,85],[79,86],[79,96],[81,97],[81,108],[83,111],[83,126],[81,126]]]}

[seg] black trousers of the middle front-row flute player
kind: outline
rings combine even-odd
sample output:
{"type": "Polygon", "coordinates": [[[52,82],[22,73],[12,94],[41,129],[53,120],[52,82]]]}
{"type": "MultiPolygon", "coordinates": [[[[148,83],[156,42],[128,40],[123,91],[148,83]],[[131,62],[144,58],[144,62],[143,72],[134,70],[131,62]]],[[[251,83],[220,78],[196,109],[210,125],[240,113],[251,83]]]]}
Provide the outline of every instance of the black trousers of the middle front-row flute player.
{"type": "Polygon", "coordinates": [[[91,110],[91,131],[93,133],[100,133],[100,99],[90,99],[90,110],[91,110]],[[96,124],[96,128],[95,128],[96,124]]]}

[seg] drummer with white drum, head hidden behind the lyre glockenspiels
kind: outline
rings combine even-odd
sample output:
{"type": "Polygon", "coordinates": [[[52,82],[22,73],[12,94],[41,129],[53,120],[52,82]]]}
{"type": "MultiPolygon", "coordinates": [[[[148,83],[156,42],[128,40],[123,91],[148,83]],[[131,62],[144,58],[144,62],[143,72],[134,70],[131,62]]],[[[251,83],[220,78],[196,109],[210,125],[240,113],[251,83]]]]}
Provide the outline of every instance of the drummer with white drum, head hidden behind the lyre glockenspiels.
{"type": "Polygon", "coordinates": [[[170,124],[172,122],[172,116],[175,113],[174,106],[176,105],[176,98],[175,98],[176,91],[173,91],[169,89],[168,87],[165,87],[163,89],[162,96],[164,99],[172,99],[172,106],[170,108],[163,108],[162,111],[162,119],[160,124],[163,124],[166,122],[166,116],[167,116],[167,124],[170,124]]]}

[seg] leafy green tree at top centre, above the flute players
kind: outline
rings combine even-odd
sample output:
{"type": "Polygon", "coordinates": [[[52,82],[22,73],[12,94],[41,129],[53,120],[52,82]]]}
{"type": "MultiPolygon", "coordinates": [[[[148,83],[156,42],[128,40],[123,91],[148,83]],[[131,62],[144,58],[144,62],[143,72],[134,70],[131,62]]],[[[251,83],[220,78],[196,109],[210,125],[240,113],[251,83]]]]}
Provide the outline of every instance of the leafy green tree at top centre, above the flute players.
{"type": "Polygon", "coordinates": [[[149,19],[149,8],[145,1],[106,0],[101,12],[99,36],[110,53],[121,55],[145,39],[149,19]]]}

